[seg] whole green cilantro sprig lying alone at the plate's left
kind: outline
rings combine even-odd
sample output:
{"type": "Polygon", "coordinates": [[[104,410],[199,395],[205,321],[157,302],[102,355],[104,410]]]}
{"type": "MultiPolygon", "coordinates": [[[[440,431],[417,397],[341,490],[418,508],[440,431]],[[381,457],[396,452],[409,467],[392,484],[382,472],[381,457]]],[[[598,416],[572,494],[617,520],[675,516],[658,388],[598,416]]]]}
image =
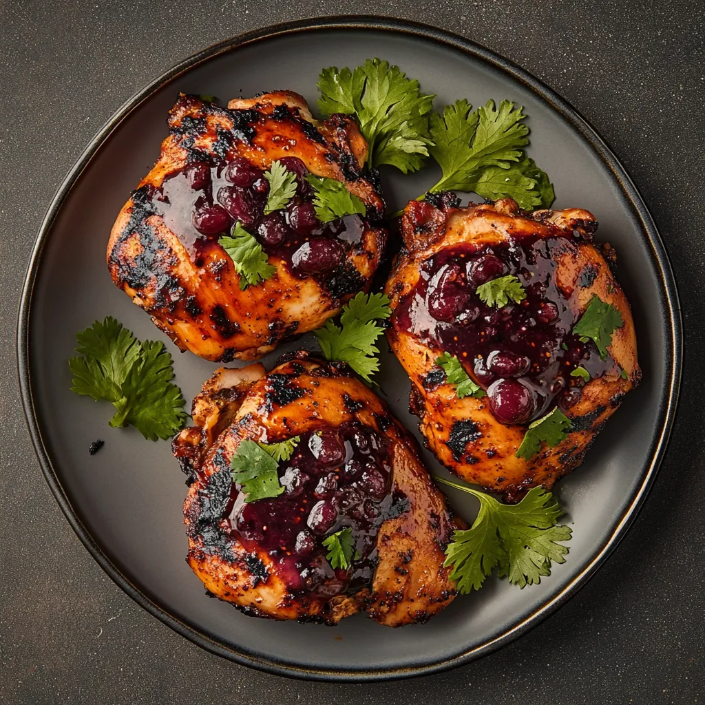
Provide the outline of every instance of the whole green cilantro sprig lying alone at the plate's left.
{"type": "Polygon", "coordinates": [[[113,427],[132,424],[151,441],[168,439],[183,428],[181,390],[172,384],[171,355],[159,341],[140,341],[108,316],[76,333],[79,357],[71,357],[71,391],[116,408],[113,427]]]}

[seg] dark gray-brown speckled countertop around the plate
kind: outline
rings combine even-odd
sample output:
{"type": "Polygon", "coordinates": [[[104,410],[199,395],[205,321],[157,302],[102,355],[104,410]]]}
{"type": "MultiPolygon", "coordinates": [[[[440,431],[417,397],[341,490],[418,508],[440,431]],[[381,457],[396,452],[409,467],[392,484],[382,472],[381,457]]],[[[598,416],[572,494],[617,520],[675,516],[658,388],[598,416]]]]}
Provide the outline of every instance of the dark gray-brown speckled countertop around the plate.
{"type": "Polygon", "coordinates": [[[702,2],[120,0],[0,3],[0,702],[263,704],[705,701],[705,27],[702,2]],[[450,673],[367,685],[284,680],[211,656],[142,611],[51,496],[16,381],[20,286],[66,171],[128,97],[207,44],[326,13],[460,32],[544,80],[613,147],[661,229],[680,288],[685,377],[670,448],[626,539],[575,599],[450,673]]]}

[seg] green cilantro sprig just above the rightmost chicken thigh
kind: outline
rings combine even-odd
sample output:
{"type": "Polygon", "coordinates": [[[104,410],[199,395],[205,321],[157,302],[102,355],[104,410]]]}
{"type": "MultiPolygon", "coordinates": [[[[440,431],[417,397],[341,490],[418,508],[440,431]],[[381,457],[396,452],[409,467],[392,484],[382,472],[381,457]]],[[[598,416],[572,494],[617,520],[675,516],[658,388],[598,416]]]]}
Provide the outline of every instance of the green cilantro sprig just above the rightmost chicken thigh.
{"type": "Polygon", "coordinates": [[[512,197],[520,208],[547,208],[553,202],[548,176],[523,151],[529,128],[522,108],[503,100],[472,110],[456,101],[431,115],[431,157],[441,166],[441,180],[430,191],[474,192],[496,200],[512,197]]]}

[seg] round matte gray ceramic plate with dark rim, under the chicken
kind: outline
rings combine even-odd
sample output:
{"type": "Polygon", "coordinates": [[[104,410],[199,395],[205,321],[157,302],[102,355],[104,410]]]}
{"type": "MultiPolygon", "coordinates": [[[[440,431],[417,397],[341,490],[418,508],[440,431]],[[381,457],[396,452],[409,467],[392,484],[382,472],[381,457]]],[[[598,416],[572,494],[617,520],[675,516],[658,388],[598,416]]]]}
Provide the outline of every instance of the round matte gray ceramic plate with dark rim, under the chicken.
{"type": "MultiPolygon", "coordinates": [[[[434,183],[384,173],[393,209],[434,183]]],[[[300,345],[313,347],[309,338],[300,345]]],[[[243,35],[188,59],[116,113],[80,157],[37,238],[20,311],[20,379],[30,430],[51,489],[92,556],[130,596],[216,654],[285,675],[364,680],[431,673],[478,658],[555,611],[598,568],[634,519],[661,460],[680,373],[680,319],[673,278],[654,223],[614,155],[589,125],[525,71],[465,39],[379,18],[333,18],[243,35]],[[335,629],[250,618],[208,599],[184,562],[183,475],[165,442],[109,429],[111,407],[69,391],[66,358],[75,331],[111,314],[140,338],[161,338],[147,314],[113,286],[105,266],[111,224],[166,135],[178,92],[223,100],[289,88],[314,105],[320,69],[379,56],[419,78],[445,104],[508,98],[525,106],[531,156],[556,184],[556,207],[580,206],[601,221],[598,239],[620,254],[619,278],[632,302],[644,383],[607,425],[587,462],[560,482],[574,529],[568,561],[536,587],[489,580],[426,625],[391,630],[363,616],[335,629]],[[94,439],[106,439],[97,455],[94,439]]],[[[171,347],[173,353],[176,348],[171,347]]],[[[291,347],[291,346],[290,346],[291,347]]],[[[278,350],[264,363],[271,367],[278,350]]],[[[214,364],[176,354],[185,396],[214,364]]],[[[388,353],[379,375],[393,412],[409,428],[408,379],[388,353]]],[[[434,472],[438,464],[426,454],[434,472]]],[[[450,500],[472,519],[472,499],[450,500]]],[[[77,596],[80,599],[80,596],[77,596]]]]}

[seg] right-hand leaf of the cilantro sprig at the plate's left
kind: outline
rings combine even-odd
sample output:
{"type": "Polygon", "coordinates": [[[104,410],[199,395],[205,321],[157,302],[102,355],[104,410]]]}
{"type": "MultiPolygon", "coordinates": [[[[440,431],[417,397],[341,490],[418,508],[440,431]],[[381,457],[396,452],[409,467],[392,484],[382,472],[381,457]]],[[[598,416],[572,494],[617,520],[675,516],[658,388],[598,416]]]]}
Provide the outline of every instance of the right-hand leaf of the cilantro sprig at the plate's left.
{"type": "Polygon", "coordinates": [[[114,402],[117,409],[110,419],[113,427],[132,424],[146,439],[168,439],[183,428],[185,400],[173,384],[171,354],[161,341],[142,343],[140,359],[130,367],[114,402]]]}

